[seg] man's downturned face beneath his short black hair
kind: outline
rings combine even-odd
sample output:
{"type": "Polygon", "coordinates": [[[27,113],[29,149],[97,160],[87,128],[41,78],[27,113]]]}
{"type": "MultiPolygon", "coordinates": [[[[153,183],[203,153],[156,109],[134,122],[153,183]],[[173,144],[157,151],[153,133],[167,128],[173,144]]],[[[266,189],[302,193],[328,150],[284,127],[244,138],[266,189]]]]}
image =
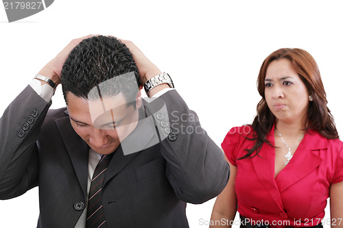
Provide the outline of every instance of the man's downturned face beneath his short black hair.
{"type": "Polygon", "coordinates": [[[140,92],[136,107],[128,105],[122,93],[112,97],[88,101],[67,92],[67,108],[76,133],[95,152],[113,153],[137,126],[141,105],[140,92]]]}

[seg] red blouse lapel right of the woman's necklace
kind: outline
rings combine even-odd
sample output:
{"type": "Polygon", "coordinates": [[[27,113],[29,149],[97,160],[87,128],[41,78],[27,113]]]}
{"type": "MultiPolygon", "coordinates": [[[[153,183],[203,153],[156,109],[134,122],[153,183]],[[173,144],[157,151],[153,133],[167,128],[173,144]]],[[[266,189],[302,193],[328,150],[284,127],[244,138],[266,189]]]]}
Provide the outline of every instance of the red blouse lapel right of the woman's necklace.
{"type": "Polygon", "coordinates": [[[327,149],[327,138],[321,136],[317,131],[309,130],[296,149],[292,160],[276,176],[280,192],[309,175],[320,165],[322,162],[322,158],[318,155],[320,149],[327,149]]]}

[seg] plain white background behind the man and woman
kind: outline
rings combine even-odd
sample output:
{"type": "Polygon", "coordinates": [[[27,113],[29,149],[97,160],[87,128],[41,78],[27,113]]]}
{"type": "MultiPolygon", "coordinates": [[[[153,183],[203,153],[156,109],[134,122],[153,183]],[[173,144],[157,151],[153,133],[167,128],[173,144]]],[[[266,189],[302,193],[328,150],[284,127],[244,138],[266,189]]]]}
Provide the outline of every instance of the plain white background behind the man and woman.
{"type": "MultiPolygon", "coordinates": [[[[15,23],[1,5],[0,112],[71,39],[104,34],[132,40],[169,73],[218,145],[230,127],[251,123],[264,58],[281,47],[305,49],[318,62],[341,133],[342,22],[340,1],[56,0],[15,23]]],[[[58,88],[52,108],[62,106],[58,88]]],[[[187,206],[191,228],[206,227],[199,220],[209,220],[213,203],[187,206]]],[[[36,227],[38,214],[37,188],[0,201],[0,227],[36,227]]]]}

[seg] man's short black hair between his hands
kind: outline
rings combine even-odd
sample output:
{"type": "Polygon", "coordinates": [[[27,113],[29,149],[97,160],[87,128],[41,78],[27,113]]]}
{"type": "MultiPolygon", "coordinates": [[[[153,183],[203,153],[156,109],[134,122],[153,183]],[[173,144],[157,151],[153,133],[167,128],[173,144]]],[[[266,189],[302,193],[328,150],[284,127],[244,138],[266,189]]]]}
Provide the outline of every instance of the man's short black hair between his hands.
{"type": "Polygon", "coordinates": [[[62,67],[61,84],[67,103],[67,92],[84,99],[97,99],[99,95],[110,97],[122,92],[127,101],[135,101],[141,83],[138,68],[126,45],[114,37],[93,36],[82,40],[71,51],[62,67]],[[134,73],[135,80],[116,77],[130,72],[134,73]],[[93,94],[95,90],[92,89],[99,84],[103,85],[101,94],[93,94]]]}

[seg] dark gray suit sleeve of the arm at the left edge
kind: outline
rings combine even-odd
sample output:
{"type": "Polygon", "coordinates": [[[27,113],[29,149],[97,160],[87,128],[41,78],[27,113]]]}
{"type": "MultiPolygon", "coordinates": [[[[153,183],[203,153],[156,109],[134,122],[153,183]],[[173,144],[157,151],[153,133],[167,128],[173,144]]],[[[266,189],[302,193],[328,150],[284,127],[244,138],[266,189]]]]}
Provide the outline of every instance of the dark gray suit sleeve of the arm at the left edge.
{"type": "Polygon", "coordinates": [[[38,139],[50,103],[27,86],[0,118],[0,199],[38,184],[38,139]]]}

